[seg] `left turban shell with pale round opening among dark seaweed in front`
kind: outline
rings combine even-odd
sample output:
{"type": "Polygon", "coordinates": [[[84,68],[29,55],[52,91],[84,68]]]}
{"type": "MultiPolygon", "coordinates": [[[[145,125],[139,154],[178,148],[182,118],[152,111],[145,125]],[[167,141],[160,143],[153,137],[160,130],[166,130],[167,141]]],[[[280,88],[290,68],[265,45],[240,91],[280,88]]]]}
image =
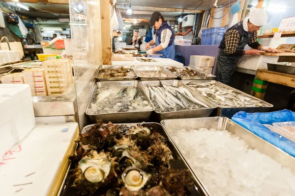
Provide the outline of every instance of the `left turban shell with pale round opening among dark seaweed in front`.
{"type": "Polygon", "coordinates": [[[111,161],[100,159],[90,159],[88,157],[79,161],[78,166],[89,182],[103,182],[111,170],[111,161]]]}

